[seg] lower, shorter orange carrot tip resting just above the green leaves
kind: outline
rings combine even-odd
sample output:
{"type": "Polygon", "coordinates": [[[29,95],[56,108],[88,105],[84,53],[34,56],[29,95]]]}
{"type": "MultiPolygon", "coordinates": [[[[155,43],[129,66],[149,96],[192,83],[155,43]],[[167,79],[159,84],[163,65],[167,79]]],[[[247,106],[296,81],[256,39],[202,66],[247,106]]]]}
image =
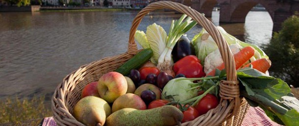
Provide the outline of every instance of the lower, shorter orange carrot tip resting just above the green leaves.
{"type": "Polygon", "coordinates": [[[270,68],[271,61],[269,59],[262,58],[262,59],[259,59],[259,60],[256,60],[256,61],[246,64],[243,68],[249,67],[250,64],[252,65],[252,68],[265,73],[270,68]]]}

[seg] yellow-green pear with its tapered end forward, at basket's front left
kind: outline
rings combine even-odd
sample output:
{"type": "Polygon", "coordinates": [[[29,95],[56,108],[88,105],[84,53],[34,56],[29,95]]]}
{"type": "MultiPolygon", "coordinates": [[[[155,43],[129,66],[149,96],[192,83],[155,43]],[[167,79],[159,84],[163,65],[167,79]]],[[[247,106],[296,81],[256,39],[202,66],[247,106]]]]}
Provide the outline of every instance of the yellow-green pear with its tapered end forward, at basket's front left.
{"type": "Polygon", "coordinates": [[[111,107],[105,100],[87,96],[75,105],[73,116],[86,126],[103,126],[110,114],[111,107]]]}

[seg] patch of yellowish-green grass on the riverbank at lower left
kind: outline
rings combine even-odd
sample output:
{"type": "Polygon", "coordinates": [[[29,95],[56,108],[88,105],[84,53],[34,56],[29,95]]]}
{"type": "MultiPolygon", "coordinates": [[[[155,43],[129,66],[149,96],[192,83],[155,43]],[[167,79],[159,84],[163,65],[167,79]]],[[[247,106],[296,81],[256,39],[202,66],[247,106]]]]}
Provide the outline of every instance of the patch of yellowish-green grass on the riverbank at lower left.
{"type": "Polygon", "coordinates": [[[52,116],[50,109],[45,107],[44,101],[44,96],[34,96],[31,100],[20,100],[15,96],[0,101],[0,124],[13,122],[20,125],[22,122],[36,119],[40,122],[43,118],[52,116]]]}

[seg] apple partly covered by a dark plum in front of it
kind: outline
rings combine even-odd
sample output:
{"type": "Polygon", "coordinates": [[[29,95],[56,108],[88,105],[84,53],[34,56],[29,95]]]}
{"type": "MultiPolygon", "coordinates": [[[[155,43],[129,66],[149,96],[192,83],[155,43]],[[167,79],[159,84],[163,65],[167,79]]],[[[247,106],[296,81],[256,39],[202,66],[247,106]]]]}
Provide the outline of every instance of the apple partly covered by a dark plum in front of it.
{"type": "Polygon", "coordinates": [[[142,84],[134,92],[134,94],[141,96],[144,90],[151,90],[156,94],[156,100],[161,99],[161,89],[154,84],[142,84]]]}

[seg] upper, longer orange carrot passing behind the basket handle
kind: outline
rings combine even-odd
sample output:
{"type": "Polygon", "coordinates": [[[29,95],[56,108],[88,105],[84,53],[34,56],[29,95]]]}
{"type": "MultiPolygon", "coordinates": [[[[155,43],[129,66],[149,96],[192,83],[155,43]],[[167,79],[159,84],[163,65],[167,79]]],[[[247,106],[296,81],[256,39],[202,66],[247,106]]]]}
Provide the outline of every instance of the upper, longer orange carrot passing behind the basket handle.
{"type": "MultiPolygon", "coordinates": [[[[238,53],[234,54],[236,69],[239,69],[244,63],[246,63],[254,55],[254,52],[255,50],[253,47],[246,46],[243,49],[241,49],[238,53]]],[[[223,70],[224,68],[224,63],[216,67],[216,69],[219,70],[223,70]]],[[[206,76],[215,76],[216,69],[206,74],[206,76]]]]}

